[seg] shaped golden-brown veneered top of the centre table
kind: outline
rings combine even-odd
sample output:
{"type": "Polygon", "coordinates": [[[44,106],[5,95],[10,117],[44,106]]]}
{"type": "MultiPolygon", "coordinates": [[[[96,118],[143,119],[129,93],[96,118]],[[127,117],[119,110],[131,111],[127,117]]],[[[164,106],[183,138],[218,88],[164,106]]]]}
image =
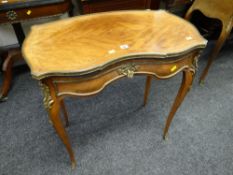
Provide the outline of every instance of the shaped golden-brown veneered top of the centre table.
{"type": "Polygon", "coordinates": [[[41,79],[85,74],[131,58],[166,59],[205,45],[193,25],[165,11],[118,11],[33,26],[23,54],[41,79]]]}

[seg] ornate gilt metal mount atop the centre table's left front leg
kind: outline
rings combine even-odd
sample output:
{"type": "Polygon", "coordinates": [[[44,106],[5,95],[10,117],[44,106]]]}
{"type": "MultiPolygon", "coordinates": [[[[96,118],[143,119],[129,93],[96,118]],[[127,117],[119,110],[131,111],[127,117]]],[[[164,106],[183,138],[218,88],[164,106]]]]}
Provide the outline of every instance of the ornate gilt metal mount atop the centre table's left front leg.
{"type": "Polygon", "coordinates": [[[44,107],[45,107],[45,109],[50,110],[54,101],[50,95],[49,87],[47,85],[45,85],[44,83],[42,83],[41,81],[39,82],[39,85],[40,85],[40,87],[43,91],[43,95],[44,95],[44,98],[43,98],[44,107]]]}

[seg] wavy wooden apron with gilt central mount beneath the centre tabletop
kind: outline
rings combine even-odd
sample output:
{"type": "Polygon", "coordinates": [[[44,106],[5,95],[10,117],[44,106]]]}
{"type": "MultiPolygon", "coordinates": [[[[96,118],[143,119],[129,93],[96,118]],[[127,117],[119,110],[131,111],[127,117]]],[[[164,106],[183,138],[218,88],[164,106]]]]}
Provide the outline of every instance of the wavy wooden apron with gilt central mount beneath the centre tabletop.
{"type": "Polygon", "coordinates": [[[194,54],[171,63],[161,63],[155,60],[128,60],[91,76],[53,77],[52,82],[59,98],[90,96],[99,93],[107,85],[123,77],[151,75],[159,79],[167,79],[185,69],[189,69],[195,74],[196,61],[194,54]]]}

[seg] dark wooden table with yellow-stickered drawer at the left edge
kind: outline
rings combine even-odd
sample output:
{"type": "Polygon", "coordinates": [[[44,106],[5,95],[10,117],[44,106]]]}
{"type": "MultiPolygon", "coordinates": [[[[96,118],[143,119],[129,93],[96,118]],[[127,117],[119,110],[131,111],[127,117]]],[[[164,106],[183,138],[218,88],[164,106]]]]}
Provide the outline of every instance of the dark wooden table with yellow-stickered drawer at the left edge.
{"type": "MultiPolygon", "coordinates": [[[[22,21],[72,13],[73,5],[70,0],[8,0],[0,1],[0,24],[12,24],[21,47],[25,35],[21,26],[22,21]]],[[[0,101],[6,99],[12,80],[12,66],[15,60],[22,59],[20,48],[14,48],[2,55],[3,85],[0,101]]]]}

